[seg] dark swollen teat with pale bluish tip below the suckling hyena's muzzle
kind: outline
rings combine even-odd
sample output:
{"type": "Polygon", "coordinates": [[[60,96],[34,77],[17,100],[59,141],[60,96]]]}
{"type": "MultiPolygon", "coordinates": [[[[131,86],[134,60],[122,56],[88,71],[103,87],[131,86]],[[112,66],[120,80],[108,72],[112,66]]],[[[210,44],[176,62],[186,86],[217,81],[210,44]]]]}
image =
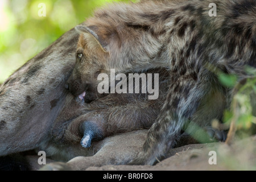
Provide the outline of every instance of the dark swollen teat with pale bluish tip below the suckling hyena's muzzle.
{"type": "Polygon", "coordinates": [[[85,121],[80,126],[81,133],[84,135],[81,139],[81,146],[88,148],[92,144],[92,140],[100,140],[103,138],[102,131],[93,122],[85,121]]]}

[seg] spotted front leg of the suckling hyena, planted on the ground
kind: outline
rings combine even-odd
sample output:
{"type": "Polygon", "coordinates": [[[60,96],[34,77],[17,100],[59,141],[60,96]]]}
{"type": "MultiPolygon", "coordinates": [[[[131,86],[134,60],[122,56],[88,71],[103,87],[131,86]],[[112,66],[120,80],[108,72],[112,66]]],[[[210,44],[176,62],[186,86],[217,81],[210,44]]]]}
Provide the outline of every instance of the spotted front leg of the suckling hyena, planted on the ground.
{"type": "Polygon", "coordinates": [[[209,92],[209,82],[182,76],[171,84],[159,117],[148,131],[143,151],[130,164],[152,165],[174,147],[181,130],[209,92]]]}

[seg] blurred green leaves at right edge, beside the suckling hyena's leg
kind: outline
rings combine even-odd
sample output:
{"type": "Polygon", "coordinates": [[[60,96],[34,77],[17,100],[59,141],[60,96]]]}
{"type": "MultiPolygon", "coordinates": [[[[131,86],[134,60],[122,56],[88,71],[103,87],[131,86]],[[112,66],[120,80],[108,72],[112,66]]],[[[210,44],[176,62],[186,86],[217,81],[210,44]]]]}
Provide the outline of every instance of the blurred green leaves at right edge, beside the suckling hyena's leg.
{"type": "MultiPolygon", "coordinates": [[[[221,84],[233,90],[234,96],[230,108],[224,111],[224,125],[217,120],[212,121],[213,128],[222,130],[229,129],[232,122],[236,123],[237,136],[240,138],[256,132],[256,69],[246,67],[245,71],[250,76],[243,82],[238,82],[236,75],[228,75],[219,70],[216,73],[221,84]]],[[[207,142],[202,137],[207,135],[203,129],[192,122],[189,125],[187,133],[193,133],[193,137],[199,142],[207,142]]]]}

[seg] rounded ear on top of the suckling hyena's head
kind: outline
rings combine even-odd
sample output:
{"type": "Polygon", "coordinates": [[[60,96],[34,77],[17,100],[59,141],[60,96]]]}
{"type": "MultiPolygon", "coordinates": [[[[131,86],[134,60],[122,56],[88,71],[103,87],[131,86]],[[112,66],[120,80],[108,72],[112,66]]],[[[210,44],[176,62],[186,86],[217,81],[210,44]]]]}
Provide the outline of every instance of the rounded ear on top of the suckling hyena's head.
{"type": "Polygon", "coordinates": [[[99,28],[96,26],[76,26],[77,31],[84,34],[85,38],[93,36],[92,44],[99,45],[105,52],[109,52],[108,42],[106,41],[106,36],[104,36],[100,31],[99,28]]]}

